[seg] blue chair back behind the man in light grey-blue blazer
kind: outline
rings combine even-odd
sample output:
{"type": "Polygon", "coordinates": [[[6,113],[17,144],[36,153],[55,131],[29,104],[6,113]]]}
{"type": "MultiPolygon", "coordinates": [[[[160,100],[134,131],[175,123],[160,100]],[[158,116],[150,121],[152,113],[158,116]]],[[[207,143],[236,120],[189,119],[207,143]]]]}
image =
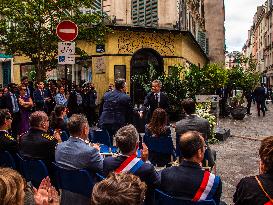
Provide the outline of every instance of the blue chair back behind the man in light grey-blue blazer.
{"type": "Polygon", "coordinates": [[[86,197],[91,196],[94,177],[87,170],[67,170],[61,168],[56,163],[53,164],[59,189],[78,193],[86,197]]]}

